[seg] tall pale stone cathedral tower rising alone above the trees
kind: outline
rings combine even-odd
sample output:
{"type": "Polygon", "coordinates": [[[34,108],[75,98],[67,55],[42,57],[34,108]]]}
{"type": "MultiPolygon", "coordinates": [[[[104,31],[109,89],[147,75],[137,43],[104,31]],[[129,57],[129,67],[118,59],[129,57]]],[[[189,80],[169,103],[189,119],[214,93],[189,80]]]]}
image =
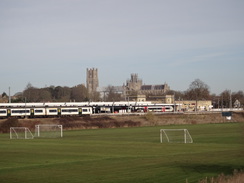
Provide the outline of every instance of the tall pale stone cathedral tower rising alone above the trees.
{"type": "Polygon", "coordinates": [[[98,87],[97,69],[92,68],[86,70],[86,87],[90,94],[97,91],[97,87],[98,87]]]}

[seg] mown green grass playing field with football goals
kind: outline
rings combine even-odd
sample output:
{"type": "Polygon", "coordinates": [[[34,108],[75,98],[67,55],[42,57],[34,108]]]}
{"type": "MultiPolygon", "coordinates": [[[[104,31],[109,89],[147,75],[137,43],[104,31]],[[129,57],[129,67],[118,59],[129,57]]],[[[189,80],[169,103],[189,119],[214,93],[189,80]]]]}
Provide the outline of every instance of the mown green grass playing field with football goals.
{"type": "Polygon", "coordinates": [[[0,134],[0,181],[198,182],[244,169],[241,123],[64,131],[59,139],[0,134]],[[187,128],[193,144],[159,143],[161,128],[187,128]]]}

